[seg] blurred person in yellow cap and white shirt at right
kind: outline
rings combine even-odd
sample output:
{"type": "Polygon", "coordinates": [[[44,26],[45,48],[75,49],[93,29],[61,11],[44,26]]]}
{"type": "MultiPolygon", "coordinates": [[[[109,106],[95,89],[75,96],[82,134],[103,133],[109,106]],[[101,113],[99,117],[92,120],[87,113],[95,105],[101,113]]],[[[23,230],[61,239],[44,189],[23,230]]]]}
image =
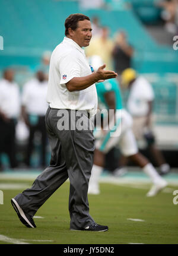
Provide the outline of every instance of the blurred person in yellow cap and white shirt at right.
{"type": "MultiPolygon", "coordinates": [[[[133,118],[133,131],[136,140],[145,140],[147,147],[159,167],[160,175],[170,171],[163,154],[155,145],[155,136],[152,132],[152,105],[154,91],[151,84],[141,75],[137,75],[132,68],[127,68],[121,75],[122,86],[129,89],[127,109],[133,118]]],[[[122,159],[125,165],[125,159],[122,159]]]]}

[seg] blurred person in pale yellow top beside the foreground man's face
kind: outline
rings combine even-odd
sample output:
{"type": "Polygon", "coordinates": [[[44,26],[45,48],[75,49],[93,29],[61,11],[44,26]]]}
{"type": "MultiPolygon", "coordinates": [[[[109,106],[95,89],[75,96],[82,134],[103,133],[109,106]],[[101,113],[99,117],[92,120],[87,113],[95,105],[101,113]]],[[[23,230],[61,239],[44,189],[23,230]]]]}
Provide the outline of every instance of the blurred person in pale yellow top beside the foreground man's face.
{"type": "Polygon", "coordinates": [[[104,64],[106,64],[106,69],[112,70],[112,51],[113,41],[109,38],[109,29],[107,27],[102,27],[101,36],[91,39],[90,46],[86,49],[86,55],[87,57],[93,55],[100,56],[100,58],[103,59],[104,64]]]}

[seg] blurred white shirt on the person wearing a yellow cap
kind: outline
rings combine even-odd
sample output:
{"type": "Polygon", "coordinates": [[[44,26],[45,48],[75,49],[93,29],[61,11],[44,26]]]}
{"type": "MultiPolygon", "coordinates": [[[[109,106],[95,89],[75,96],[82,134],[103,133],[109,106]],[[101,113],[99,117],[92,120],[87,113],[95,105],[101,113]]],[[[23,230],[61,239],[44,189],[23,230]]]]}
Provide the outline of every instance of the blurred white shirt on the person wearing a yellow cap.
{"type": "Polygon", "coordinates": [[[134,116],[145,116],[148,113],[148,102],[154,100],[151,84],[144,78],[138,77],[131,87],[127,108],[134,116]]]}

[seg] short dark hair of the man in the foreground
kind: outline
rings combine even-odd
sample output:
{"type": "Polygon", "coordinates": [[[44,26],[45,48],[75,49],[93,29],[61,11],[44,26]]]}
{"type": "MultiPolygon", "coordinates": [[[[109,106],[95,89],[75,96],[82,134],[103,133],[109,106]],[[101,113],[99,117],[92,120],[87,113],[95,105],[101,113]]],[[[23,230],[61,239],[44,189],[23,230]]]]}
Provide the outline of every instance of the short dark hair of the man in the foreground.
{"type": "Polygon", "coordinates": [[[65,20],[65,36],[68,36],[69,34],[69,27],[71,27],[72,30],[77,29],[78,21],[83,21],[83,20],[90,20],[90,18],[84,14],[81,13],[75,13],[69,15],[68,18],[65,20]]]}

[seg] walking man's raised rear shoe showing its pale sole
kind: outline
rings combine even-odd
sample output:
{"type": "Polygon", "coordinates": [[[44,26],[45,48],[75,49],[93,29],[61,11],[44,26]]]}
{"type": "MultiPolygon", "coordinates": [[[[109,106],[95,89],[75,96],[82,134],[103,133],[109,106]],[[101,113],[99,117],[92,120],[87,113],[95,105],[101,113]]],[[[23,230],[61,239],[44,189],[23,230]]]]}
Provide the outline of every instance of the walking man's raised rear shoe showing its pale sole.
{"type": "Polygon", "coordinates": [[[11,204],[14,207],[14,210],[16,211],[20,221],[26,226],[26,227],[36,227],[34,224],[33,218],[29,214],[25,214],[23,209],[18,205],[17,201],[15,201],[14,198],[11,199],[11,204]]]}

